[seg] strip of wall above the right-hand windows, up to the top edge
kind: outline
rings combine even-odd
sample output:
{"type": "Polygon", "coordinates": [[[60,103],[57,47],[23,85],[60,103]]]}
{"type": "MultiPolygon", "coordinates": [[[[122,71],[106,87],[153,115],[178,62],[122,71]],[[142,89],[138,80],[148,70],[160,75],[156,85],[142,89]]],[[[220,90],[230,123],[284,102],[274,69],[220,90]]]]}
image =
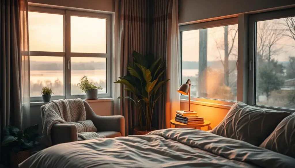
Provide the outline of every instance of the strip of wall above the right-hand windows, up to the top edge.
{"type": "Polygon", "coordinates": [[[178,0],[178,19],[183,24],[294,4],[294,0],[178,0]]]}

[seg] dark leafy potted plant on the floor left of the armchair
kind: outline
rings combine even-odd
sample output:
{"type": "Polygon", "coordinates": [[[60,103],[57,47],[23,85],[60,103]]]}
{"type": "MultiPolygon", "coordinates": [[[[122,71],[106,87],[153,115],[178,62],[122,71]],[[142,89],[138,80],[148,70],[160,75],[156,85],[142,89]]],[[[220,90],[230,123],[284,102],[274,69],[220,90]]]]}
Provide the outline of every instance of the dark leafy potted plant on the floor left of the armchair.
{"type": "Polygon", "coordinates": [[[31,156],[30,149],[40,144],[36,140],[42,138],[43,135],[39,135],[38,129],[38,124],[30,126],[24,129],[24,131],[13,126],[3,129],[4,138],[2,147],[10,151],[10,163],[12,167],[18,167],[18,164],[31,156]]]}

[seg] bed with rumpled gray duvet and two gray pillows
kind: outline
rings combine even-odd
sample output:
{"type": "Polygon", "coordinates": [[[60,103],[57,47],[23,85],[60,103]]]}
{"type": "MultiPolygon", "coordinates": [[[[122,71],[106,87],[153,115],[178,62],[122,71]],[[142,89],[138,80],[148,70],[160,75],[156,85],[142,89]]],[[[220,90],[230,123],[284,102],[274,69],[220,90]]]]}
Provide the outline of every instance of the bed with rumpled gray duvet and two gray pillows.
{"type": "Polygon", "coordinates": [[[58,144],[19,168],[295,168],[295,114],[238,102],[211,132],[170,128],[147,135],[58,144]]]}

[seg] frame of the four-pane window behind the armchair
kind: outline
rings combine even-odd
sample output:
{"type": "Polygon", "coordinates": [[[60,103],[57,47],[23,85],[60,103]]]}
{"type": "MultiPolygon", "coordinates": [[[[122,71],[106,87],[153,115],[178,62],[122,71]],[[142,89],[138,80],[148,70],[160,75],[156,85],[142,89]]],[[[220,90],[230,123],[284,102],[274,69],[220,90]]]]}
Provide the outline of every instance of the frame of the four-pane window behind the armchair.
{"type": "MultiPolygon", "coordinates": [[[[51,100],[57,99],[86,99],[86,94],[71,94],[71,57],[94,57],[106,58],[106,93],[98,94],[99,98],[112,97],[112,15],[98,12],[57,9],[42,6],[29,5],[29,11],[49,14],[63,14],[63,52],[30,51],[30,56],[62,56],[63,57],[63,87],[64,95],[52,96],[51,100]],[[106,53],[71,53],[71,16],[82,16],[106,19],[106,53]],[[69,62],[68,62],[69,61],[69,62]],[[70,64],[68,64],[70,63],[70,64]]],[[[29,25],[30,26],[30,25],[29,25]]],[[[42,97],[30,97],[30,102],[40,102],[42,97]]]]}

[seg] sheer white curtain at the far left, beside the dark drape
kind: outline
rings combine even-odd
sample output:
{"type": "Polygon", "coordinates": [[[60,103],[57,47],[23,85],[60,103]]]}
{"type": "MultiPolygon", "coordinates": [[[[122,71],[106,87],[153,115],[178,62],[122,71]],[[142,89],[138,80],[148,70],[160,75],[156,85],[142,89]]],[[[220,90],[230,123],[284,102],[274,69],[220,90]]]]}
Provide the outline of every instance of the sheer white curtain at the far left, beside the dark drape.
{"type": "Polygon", "coordinates": [[[20,0],[20,35],[21,35],[21,102],[23,127],[30,124],[30,57],[29,57],[29,29],[28,29],[28,1],[20,0]]]}

